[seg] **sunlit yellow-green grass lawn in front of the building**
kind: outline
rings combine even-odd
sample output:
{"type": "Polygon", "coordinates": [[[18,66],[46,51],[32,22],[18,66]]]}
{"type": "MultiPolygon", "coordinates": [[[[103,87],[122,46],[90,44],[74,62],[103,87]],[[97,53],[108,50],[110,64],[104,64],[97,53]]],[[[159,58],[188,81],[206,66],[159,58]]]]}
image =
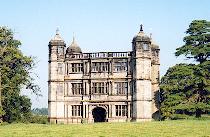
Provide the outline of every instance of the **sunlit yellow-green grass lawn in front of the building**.
{"type": "Polygon", "coordinates": [[[7,124],[0,137],[210,137],[210,120],[143,123],[7,124]]]}

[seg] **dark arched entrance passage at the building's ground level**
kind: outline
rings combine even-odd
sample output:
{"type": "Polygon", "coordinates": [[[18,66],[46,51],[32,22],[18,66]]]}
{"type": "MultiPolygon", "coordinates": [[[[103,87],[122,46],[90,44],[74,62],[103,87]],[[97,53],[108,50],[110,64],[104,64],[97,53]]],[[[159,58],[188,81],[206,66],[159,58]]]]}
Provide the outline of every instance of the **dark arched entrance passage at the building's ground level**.
{"type": "Polygon", "coordinates": [[[96,107],[92,111],[94,122],[106,121],[106,110],[102,107],[96,107]]]}

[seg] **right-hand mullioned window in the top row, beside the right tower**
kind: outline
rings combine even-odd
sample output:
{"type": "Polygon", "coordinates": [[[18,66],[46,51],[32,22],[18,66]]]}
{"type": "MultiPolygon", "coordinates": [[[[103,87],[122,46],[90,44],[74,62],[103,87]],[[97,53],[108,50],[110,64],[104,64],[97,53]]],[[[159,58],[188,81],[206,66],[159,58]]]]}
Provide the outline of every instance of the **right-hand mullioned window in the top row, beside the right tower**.
{"type": "Polygon", "coordinates": [[[118,60],[114,63],[114,72],[122,72],[127,71],[127,61],[126,60],[118,60]]]}

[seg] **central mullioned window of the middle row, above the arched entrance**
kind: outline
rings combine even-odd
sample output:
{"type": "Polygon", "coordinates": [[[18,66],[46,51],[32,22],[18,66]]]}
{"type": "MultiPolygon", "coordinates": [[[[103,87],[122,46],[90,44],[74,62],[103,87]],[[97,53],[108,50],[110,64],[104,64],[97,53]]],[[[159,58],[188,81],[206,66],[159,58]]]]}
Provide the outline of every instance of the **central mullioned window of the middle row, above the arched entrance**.
{"type": "Polygon", "coordinates": [[[107,93],[107,83],[105,82],[94,82],[92,85],[93,94],[106,94],[107,93]]]}

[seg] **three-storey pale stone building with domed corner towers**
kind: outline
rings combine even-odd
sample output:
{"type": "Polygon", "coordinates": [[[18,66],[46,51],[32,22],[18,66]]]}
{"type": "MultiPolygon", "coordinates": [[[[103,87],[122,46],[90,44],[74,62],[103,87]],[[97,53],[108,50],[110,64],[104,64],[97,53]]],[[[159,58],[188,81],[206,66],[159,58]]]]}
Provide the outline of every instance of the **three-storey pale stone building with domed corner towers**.
{"type": "Polygon", "coordinates": [[[142,29],[132,51],[84,53],[58,32],[49,42],[51,123],[150,121],[157,111],[159,46],[142,29]]]}

